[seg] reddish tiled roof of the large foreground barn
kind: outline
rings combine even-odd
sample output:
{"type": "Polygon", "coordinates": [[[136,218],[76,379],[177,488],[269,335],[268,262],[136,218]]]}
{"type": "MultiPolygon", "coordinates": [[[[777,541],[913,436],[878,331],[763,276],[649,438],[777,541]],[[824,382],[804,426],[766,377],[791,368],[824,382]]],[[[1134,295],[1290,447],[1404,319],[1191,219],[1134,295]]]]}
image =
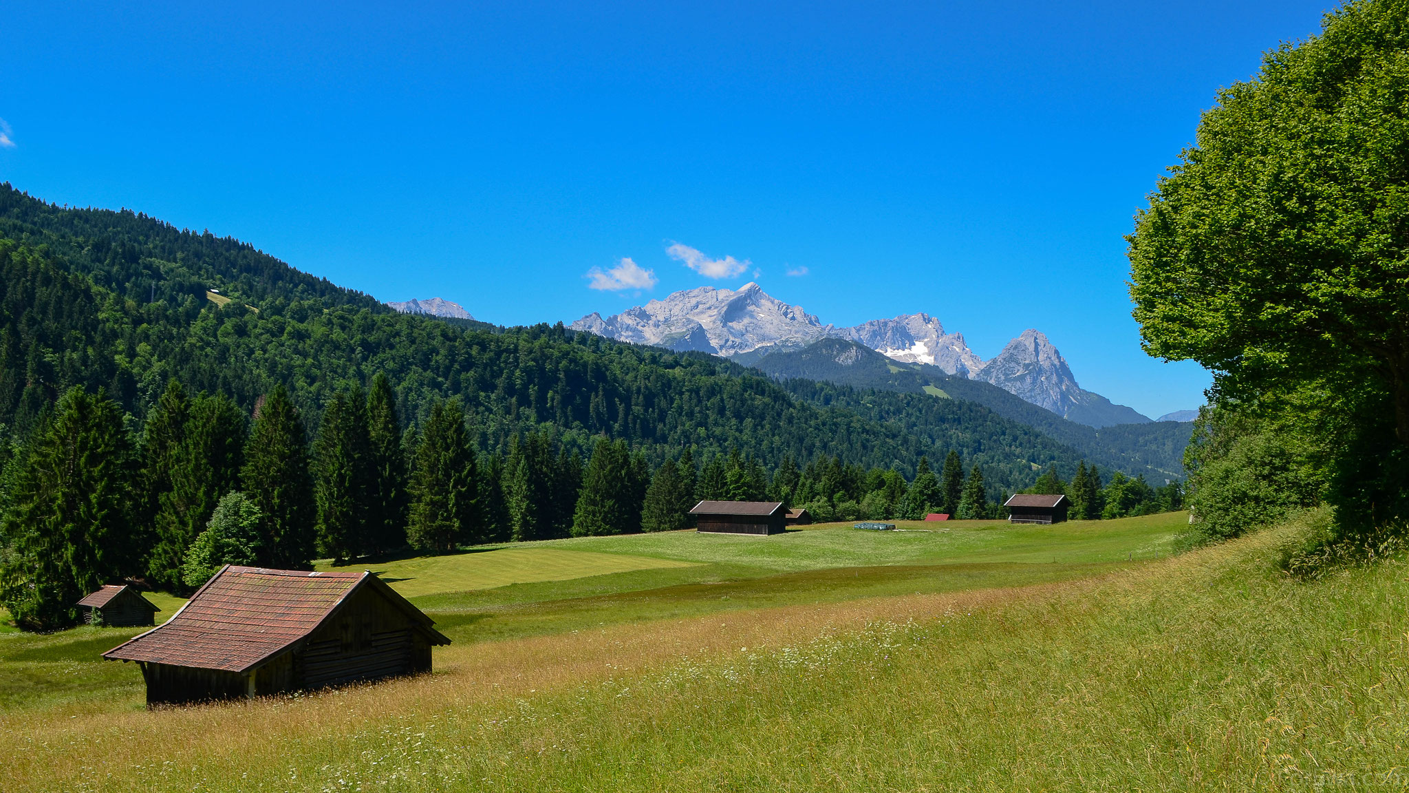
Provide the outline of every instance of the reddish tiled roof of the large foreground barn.
{"type": "Polygon", "coordinates": [[[364,584],[383,590],[431,634],[434,643],[448,643],[428,617],[371,573],[227,566],[165,625],[103,658],[248,672],[311,634],[364,584]]]}

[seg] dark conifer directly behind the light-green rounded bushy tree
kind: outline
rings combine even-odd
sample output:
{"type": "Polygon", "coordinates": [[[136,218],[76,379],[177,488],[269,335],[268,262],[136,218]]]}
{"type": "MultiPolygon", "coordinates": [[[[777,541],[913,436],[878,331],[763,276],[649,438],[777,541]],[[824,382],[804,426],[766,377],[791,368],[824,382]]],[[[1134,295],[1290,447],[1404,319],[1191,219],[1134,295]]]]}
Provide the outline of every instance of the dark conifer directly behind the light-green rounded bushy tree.
{"type": "Polygon", "coordinates": [[[170,454],[170,488],[161,495],[156,529],[161,538],[148,570],[154,583],[183,587],[186,550],[206,528],[216,504],[240,490],[245,456],[245,415],[224,394],[199,394],[180,443],[170,454]]]}

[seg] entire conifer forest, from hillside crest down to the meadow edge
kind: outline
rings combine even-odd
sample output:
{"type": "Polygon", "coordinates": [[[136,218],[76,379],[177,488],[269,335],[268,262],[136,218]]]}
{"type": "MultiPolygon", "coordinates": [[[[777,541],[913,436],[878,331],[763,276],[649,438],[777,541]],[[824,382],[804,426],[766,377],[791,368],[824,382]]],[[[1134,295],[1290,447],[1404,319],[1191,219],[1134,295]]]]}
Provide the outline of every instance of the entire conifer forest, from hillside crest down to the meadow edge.
{"type": "Polygon", "coordinates": [[[1138,483],[1091,516],[1179,498],[976,402],[399,315],[232,238],[8,185],[0,423],[0,597],[30,626],[72,621],[73,593],[117,577],[183,590],[234,560],[672,529],[696,498],[988,516],[1043,471],[1048,488],[1138,483]],[[85,447],[110,460],[65,478],[85,447]],[[73,487],[111,501],[101,519],[72,511],[73,487]]]}

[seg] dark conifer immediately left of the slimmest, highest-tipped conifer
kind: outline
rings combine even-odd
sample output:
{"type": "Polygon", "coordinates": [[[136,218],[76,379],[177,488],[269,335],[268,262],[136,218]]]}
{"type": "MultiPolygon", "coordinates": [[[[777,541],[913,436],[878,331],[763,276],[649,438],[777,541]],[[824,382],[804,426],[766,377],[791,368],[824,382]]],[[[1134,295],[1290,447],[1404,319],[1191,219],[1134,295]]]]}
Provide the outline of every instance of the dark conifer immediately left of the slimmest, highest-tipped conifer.
{"type": "Polygon", "coordinates": [[[317,466],[318,550],[334,566],[366,553],[376,476],[361,388],[338,391],[323,411],[313,444],[317,466]]]}

